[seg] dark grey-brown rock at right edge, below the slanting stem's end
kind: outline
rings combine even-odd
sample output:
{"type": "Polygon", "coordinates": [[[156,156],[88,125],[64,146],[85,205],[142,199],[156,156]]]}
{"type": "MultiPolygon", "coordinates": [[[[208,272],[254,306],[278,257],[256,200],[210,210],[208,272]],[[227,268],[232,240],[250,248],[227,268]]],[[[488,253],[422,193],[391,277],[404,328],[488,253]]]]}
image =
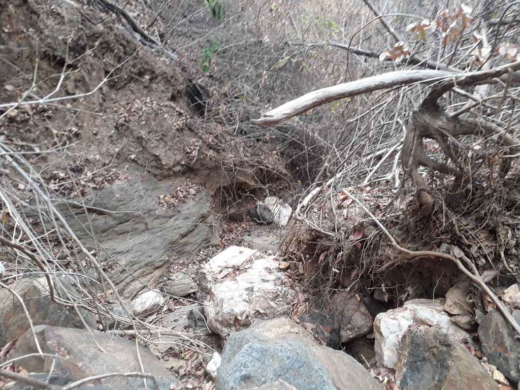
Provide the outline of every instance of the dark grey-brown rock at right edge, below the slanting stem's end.
{"type": "MultiPolygon", "coordinates": [[[[520,323],[520,310],[513,311],[513,318],[520,323]]],[[[480,321],[478,337],[488,362],[509,380],[520,382],[520,340],[498,310],[491,310],[480,321]]]]}

